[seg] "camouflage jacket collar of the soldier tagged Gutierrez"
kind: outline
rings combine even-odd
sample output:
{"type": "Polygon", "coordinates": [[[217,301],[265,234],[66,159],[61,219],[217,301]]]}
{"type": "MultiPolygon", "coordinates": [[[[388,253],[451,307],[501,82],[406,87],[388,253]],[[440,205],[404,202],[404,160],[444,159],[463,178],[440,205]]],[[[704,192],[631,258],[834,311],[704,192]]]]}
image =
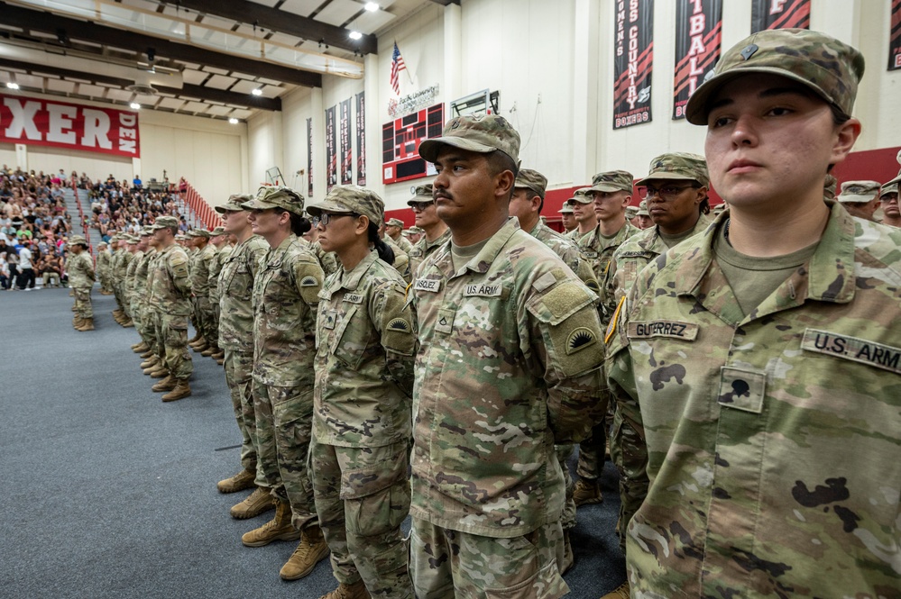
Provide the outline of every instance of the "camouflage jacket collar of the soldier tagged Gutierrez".
{"type": "MultiPolygon", "coordinates": [[[[855,224],[841,204],[825,200],[830,209],[829,221],[823,237],[810,259],[806,297],[823,302],[846,304],[854,297],[854,235],[855,224]]],[[[729,211],[721,213],[713,225],[703,231],[695,243],[698,251],[683,252],[683,262],[676,277],[678,295],[696,295],[700,292],[702,279],[713,261],[713,241],[729,217],[729,211]]],[[[681,244],[680,244],[681,246],[681,244]]]]}

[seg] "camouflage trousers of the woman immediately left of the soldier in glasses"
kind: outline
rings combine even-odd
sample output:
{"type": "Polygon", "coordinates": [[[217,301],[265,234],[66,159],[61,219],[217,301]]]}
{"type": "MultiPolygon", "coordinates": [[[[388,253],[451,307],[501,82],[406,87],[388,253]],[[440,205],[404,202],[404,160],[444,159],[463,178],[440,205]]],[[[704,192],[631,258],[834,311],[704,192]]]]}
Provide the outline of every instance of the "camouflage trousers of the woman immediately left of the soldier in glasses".
{"type": "Polygon", "coordinates": [[[253,381],[256,416],[257,485],[289,501],[296,528],[317,523],[308,452],[313,429],[313,389],[253,381]],[[262,483],[261,483],[262,474],[262,483]]]}

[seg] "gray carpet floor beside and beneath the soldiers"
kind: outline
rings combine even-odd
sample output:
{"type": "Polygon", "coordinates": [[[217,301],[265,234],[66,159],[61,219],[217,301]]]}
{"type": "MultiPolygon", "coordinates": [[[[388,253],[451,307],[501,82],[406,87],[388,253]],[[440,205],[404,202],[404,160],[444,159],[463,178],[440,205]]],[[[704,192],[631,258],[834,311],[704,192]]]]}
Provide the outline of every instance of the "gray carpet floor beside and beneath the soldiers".
{"type": "MultiPolygon", "coordinates": [[[[247,492],[216,481],[240,468],[222,368],[194,355],[194,395],[162,404],[95,289],[97,330],[71,328],[67,289],[0,292],[0,597],[311,597],[336,583],[328,561],[286,583],[296,542],[249,549],[247,492]]],[[[615,472],[604,502],[579,509],[571,597],[619,585],[615,472]]]]}

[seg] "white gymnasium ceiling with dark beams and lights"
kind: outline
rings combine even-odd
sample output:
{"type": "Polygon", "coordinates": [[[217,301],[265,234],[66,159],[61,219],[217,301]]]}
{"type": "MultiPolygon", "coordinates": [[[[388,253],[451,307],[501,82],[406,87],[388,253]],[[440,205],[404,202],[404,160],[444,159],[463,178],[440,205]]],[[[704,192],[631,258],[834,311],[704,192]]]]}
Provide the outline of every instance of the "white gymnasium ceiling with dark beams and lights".
{"type": "Polygon", "coordinates": [[[377,35],[423,6],[459,0],[374,4],[0,1],[0,92],[15,93],[13,84],[24,92],[244,121],[280,110],[281,96],[298,86],[322,86],[323,74],[363,77],[363,57],[377,51],[377,35]]]}

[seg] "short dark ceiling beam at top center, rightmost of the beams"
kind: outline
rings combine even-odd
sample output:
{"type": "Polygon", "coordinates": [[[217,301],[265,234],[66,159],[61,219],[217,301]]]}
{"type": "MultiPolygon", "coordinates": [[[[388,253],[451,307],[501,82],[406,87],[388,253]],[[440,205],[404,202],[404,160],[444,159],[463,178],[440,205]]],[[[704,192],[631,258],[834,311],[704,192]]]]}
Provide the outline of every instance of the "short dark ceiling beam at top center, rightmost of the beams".
{"type": "Polygon", "coordinates": [[[288,33],[302,40],[322,41],[329,46],[341,48],[348,52],[354,50],[361,54],[373,54],[379,51],[379,41],[372,34],[363,35],[359,40],[351,40],[344,27],[336,27],[315,19],[291,14],[269,6],[258,5],[247,0],[179,0],[167,1],[166,4],[180,6],[198,11],[198,13],[237,21],[238,23],[256,24],[257,27],[270,29],[273,32],[288,33]]]}

